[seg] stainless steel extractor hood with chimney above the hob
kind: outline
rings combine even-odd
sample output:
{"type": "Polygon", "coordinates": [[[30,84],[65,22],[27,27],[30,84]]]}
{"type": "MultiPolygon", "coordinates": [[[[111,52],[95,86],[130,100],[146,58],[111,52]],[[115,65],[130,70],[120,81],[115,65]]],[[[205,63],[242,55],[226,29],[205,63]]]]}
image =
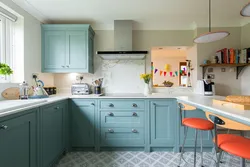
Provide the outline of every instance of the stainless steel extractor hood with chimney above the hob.
{"type": "Polygon", "coordinates": [[[148,51],[132,50],[133,35],[132,20],[114,21],[114,51],[97,51],[105,60],[142,60],[148,51]]]}

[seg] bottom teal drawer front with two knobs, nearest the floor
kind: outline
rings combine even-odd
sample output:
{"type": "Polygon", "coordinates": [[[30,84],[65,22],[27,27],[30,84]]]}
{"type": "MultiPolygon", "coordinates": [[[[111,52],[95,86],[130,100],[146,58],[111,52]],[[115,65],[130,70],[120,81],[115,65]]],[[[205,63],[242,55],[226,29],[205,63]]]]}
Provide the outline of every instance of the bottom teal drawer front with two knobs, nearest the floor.
{"type": "Polygon", "coordinates": [[[144,146],[143,128],[102,128],[101,146],[144,146]]]}

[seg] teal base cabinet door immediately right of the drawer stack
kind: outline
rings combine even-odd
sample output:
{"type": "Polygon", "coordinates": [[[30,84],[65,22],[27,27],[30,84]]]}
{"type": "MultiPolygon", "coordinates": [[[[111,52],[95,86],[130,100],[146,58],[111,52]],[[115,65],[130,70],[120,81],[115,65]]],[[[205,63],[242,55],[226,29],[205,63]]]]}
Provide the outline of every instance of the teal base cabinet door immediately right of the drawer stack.
{"type": "Polygon", "coordinates": [[[150,102],[151,146],[174,147],[176,140],[176,105],[174,100],[150,102]]]}

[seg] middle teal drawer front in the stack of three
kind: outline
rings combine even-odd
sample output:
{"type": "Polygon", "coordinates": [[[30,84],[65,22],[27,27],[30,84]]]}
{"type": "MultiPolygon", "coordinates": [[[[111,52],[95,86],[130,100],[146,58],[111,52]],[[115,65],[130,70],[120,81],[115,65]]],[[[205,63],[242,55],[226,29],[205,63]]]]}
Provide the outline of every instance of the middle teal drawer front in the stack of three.
{"type": "Polygon", "coordinates": [[[102,112],[102,127],[143,127],[144,112],[102,112]]]}

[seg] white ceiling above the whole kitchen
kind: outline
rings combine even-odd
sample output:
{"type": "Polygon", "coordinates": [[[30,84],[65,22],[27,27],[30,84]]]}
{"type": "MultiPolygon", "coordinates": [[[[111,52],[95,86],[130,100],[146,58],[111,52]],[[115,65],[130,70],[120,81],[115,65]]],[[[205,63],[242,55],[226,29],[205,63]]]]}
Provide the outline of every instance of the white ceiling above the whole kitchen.
{"type": "MultiPolygon", "coordinates": [[[[89,23],[113,29],[114,20],[134,20],[135,30],[184,30],[208,26],[208,0],[12,0],[45,23],[89,23]]],[[[240,16],[249,0],[212,0],[212,26],[250,22],[240,16]]]]}

